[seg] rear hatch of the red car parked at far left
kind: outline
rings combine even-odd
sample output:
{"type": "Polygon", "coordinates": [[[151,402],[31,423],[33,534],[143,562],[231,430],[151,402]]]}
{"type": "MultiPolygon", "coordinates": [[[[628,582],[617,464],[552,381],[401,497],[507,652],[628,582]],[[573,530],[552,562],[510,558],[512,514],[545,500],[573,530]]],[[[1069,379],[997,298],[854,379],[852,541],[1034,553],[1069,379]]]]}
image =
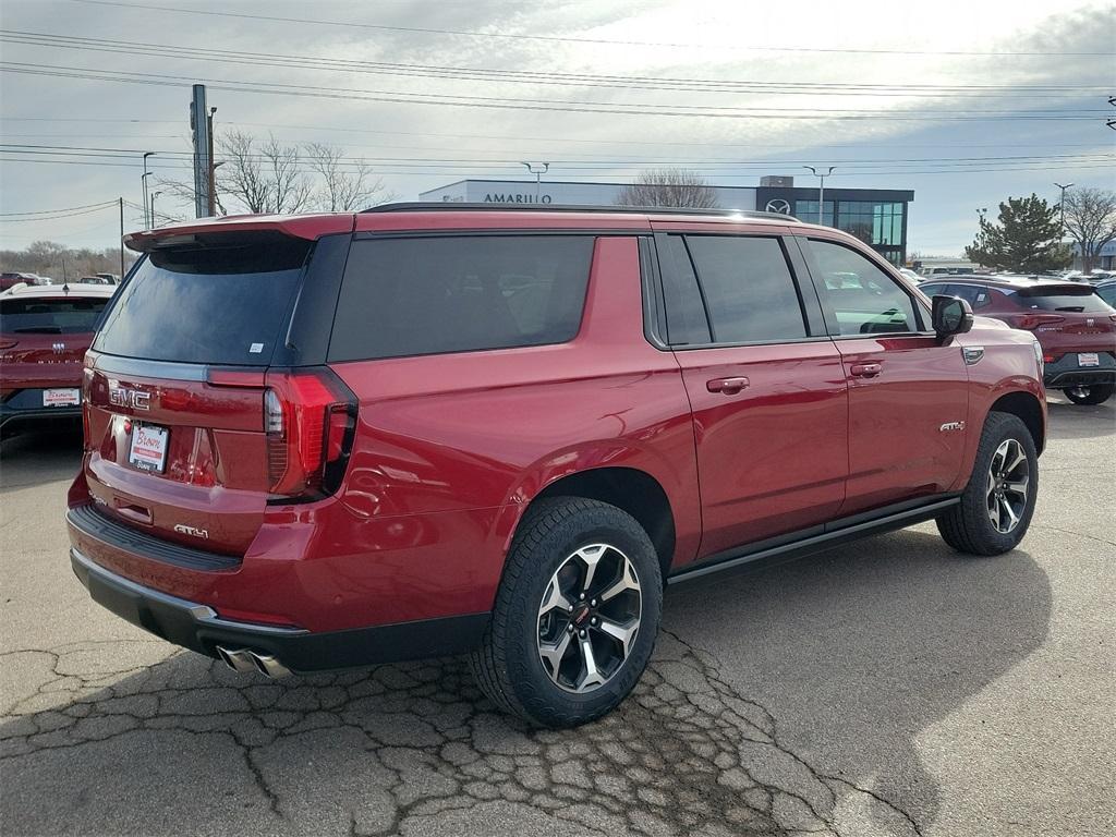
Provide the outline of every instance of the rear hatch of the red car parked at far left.
{"type": "Polygon", "coordinates": [[[21,397],[20,393],[33,388],[37,403],[21,406],[42,407],[49,406],[44,403],[48,396],[39,389],[76,391],[81,384],[81,359],[107,301],[107,297],[67,296],[61,289],[57,297],[0,298],[3,400],[21,397]]]}

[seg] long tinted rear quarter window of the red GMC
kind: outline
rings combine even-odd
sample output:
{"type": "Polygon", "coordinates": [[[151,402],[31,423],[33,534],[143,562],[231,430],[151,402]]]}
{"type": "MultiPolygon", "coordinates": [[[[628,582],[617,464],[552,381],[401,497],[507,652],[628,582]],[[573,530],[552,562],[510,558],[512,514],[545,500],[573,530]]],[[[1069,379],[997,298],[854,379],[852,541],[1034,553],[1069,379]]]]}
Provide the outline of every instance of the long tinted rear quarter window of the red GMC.
{"type": "Polygon", "coordinates": [[[588,235],[357,241],[329,359],[565,343],[581,323],[593,244],[588,235]]]}

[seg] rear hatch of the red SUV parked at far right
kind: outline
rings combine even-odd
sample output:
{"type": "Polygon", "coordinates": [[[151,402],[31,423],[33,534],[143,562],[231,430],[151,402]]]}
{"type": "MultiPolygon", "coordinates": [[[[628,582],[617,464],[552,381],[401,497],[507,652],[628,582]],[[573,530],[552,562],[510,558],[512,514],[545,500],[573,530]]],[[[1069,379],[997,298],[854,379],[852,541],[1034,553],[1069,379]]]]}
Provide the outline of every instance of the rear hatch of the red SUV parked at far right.
{"type": "Polygon", "coordinates": [[[1088,285],[1038,285],[1017,295],[1026,314],[1012,325],[1035,331],[1051,359],[1070,352],[1116,352],[1116,311],[1088,285]]]}

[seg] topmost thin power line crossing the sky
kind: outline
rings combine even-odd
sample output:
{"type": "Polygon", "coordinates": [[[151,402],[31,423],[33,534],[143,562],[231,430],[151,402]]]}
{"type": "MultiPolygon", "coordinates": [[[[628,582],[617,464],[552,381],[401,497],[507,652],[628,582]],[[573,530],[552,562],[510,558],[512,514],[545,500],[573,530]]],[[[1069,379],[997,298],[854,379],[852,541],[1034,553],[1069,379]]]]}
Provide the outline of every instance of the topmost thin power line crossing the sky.
{"type": "Polygon", "coordinates": [[[213,11],[209,9],[181,9],[171,6],[157,6],[155,3],[123,3],[115,0],[73,0],[73,2],[87,3],[90,6],[114,6],[124,9],[145,9],[148,11],[165,11],[180,15],[206,15],[222,18],[239,18],[247,20],[267,20],[270,22],[299,23],[302,26],[331,26],[344,27],[346,29],[376,29],[379,31],[411,32],[423,35],[454,35],[470,38],[491,38],[503,40],[532,40],[545,42],[562,44],[594,44],[607,46],[627,47],[657,47],[672,49],[732,49],[734,51],[749,50],[758,52],[838,52],[850,55],[895,55],[895,56],[1112,56],[1114,52],[1040,52],[1022,50],[1002,51],[977,51],[977,50],[914,50],[914,49],[847,49],[837,47],[771,47],[771,46],[745,46],[745,45],[715,45],[715,44],[685,44],[671,41],[644,41],[644,40],[616,40],[608,38],[579,38],[557,35],[508,35],[501,32],[477,32],[464,29],[435,29],[432,27],[408,27],[408,26],[386,26],[383,23],[363,23],[353,20],[323,20],[321,18],[287,18],[273,15],[248,15],[244,12],[213,11]]]}

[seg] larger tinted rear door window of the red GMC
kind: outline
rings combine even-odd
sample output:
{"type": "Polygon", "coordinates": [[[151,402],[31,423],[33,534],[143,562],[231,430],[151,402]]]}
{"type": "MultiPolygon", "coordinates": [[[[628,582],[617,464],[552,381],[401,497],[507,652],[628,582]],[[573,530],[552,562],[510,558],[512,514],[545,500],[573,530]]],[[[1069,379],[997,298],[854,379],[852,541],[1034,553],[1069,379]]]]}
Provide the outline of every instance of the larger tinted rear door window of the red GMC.
{"type": "Polygon", "coordinates": [[[687,235],[686,244],[714,343],[806,337],[802,306],[778,239],[687,235]]]}

